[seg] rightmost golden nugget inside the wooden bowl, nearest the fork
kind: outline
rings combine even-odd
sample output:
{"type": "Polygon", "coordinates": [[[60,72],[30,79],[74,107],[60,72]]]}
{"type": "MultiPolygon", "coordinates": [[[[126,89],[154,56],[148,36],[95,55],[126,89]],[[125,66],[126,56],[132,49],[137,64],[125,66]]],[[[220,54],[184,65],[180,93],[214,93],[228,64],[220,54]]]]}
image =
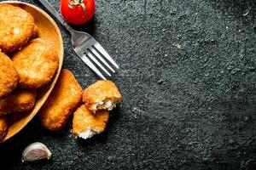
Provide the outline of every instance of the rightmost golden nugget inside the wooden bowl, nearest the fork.
{"type": "Polygon", "coordinates": [[[13,55],[12,60],[20,77],[21,88],[41,88],[55,75],[58,68],[58,54],[42,39],[29,42],[13,55]]]}

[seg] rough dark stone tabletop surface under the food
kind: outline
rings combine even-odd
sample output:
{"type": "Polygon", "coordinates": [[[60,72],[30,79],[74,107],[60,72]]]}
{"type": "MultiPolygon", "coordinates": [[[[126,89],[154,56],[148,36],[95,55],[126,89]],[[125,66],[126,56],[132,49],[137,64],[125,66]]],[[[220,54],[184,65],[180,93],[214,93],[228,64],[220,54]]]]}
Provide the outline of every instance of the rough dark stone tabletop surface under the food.
{"type": "MultiPolygon", "coordinates": [[[[77,29],[119,63],[122,107],[88,141],[71,137],[71,120],[49,132],[35,117],[0,145],[0,169],[256,169],[255,10],[255,0],[96,0],[77,29]],[[21,164],[35,141],[52,159],[21,164]]],[[[85,88],[96,76],[60,29],[63,68],[85,88]]]]}

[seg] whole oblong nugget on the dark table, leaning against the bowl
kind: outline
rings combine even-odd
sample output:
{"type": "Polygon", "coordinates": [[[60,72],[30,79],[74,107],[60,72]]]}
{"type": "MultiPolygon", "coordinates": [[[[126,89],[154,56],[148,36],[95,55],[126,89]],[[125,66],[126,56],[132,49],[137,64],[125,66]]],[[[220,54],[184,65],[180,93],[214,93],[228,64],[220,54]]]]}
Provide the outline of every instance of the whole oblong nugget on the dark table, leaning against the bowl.
{"type": "Polygon", "coordinates": [[[61,70],[55,88],[44,103],[39,118],[49,130],[60,130],[79,106],[83,90],[71,71],[61,70]]]}

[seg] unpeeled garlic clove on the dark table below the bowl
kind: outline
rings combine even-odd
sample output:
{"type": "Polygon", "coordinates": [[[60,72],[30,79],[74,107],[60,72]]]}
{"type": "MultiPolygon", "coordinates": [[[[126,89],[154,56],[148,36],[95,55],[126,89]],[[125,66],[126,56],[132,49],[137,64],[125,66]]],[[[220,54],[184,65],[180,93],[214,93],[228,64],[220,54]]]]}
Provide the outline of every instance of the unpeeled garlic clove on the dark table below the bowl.
{"type": "Polygon", "coordinates": [[[38,161],[40,159],[50,159],[51,152],[40,142],[35,142],[26,146],[22,152],[21,161],[38,161]]]}

